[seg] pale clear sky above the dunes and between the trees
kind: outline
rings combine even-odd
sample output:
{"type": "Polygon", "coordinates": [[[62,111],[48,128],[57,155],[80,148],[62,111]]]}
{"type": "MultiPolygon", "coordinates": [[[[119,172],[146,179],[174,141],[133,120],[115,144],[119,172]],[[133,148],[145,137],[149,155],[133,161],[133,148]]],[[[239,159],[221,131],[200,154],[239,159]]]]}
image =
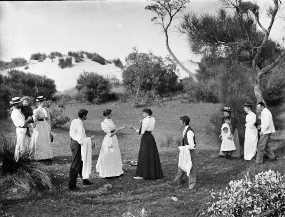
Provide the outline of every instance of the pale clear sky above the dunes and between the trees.
{"type": "MultiPolygon", "coordinates": [[[[272,0],[258,0],[268,8],[272,0]]],[[[284,2],[285,6],[285,1],[284,2]]],[[[30,59],[31,54],[68,51],[96,52],[105,59],[123,62],[133,47],[139,52],[151,50],[155,55],[169,55],[165,36],[151,22],[154,13],[145,10],[150,1],[0,1],[0,60],[30,59]]],[[[219,1],[192,0],[184,12],[216,13],[219,1]]],[[[283,10],[284,12],[284,10],[283,10]]],[[[284,13],[285,14],[285,13],[284,13]]],[[[261,22],[268,27],[263,11],[261,22]]],[[[285,21],[278,18],[270,34],[281,40],[285,21]]],[[[173,22],[172,27],[179,24],[173,22]]],[[[185,35],[169,33],[169,46],[180,61],[199,61],[191,53],[185,35]]]]}

